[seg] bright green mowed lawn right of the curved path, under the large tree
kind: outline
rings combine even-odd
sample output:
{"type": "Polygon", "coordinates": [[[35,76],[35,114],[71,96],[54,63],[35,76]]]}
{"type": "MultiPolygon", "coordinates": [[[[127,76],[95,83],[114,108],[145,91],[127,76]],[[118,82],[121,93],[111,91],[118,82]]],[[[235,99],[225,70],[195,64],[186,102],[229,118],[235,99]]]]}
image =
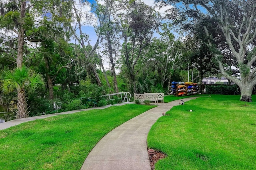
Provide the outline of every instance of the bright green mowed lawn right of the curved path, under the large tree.
{"type": "Polygon", "coordinates": [[[167,154],[156,170],[255,170],[256,96],[239,98],[197,98],[160,117],[148,134],[148,147],[167,154]]]}

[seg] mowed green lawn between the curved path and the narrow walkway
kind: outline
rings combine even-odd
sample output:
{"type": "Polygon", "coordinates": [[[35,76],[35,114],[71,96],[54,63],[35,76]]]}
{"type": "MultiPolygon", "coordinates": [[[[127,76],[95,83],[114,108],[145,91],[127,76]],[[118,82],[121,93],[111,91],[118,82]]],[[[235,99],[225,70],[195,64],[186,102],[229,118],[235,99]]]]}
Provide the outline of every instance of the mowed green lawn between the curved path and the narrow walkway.
{"type": "Polygon", "coordinates": [[[58,115],[2,130],[0,170],[79,170],[104,135],[153,107],[112,106],[58,115]]]}

